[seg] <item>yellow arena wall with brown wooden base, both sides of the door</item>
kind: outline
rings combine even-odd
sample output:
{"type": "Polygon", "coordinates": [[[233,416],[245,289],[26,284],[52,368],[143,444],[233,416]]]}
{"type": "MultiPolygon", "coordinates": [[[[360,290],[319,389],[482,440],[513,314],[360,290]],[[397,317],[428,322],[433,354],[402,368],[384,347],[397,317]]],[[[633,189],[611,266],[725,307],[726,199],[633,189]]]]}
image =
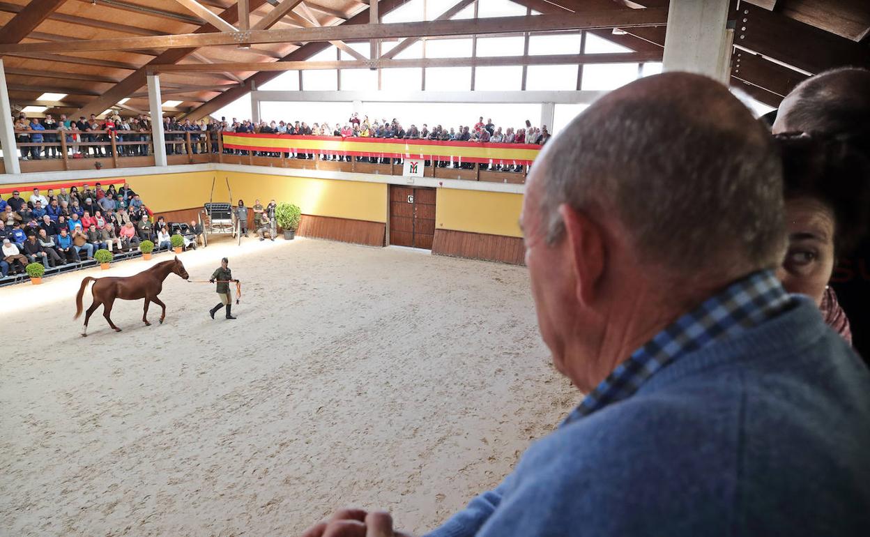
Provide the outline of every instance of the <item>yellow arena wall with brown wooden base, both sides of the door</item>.
{"type": "MultiPolygon", "coordinates": [[[[202,205],[210,198],[229,200],[230,192],[226,188],[226,179],[229,179],[234,205],[238,199],[244,199],[250,208],[257,198],[264,205],[272,198],[299,205],[303,212],[298,230],[300,236],[382,246],[385,245],[389,212],[389,182],[404,181],[403,178],[365,174],[354,176],[359,180],[298,177],[287,175],[284,170],[258,173],[253,166],[233,165],[233,168],[252,171],[224,171],[218,167],[212,171],[100,177],[67,183],[57,180],[28,182],[3,185],[3,192],[8,191],[8,197],[12,190],[18,189],[26,198],[34,186],[44,194],[47,188],[57,190],[61,185],[69,188],[88,183],[93,186],[99,181],[103,185],[120,186],[126,181],[142,196],[155,216],[164,216],[167,221],[189,221],[197,219],[202,205]],[[365,178],[371,180],[363,180],[365,178]]],[[[444,181],[445,185],[437,179],[426,181],[437,187],[432,253],[512,264],[524,262],[525,251],[518,223],[523,198],[521,191],[492,191],[493,188],[507,187],[478,186],[465,181],[455,181],[451,188],[449,181],[444,181]],[[490,190],[475,190],[477,188],[490,190]]],[[[249,211],[248,218],[252,230],[252,211],[249,211]]]]}

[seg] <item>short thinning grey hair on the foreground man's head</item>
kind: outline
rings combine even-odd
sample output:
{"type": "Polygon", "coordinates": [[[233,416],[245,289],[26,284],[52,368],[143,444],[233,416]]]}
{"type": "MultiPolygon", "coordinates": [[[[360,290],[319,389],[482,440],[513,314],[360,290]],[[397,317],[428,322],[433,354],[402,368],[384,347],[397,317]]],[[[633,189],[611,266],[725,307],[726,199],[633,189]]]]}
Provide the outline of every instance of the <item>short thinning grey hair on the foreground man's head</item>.
{"type": "Polygon", "coordinates": [[[782,260],[780,159],[751,112],[712,79],[666,73],[612,91],[544,153],[551,244],[565,231],[564,203],[615,214],[639,258],[672,273],[782,260]]]}

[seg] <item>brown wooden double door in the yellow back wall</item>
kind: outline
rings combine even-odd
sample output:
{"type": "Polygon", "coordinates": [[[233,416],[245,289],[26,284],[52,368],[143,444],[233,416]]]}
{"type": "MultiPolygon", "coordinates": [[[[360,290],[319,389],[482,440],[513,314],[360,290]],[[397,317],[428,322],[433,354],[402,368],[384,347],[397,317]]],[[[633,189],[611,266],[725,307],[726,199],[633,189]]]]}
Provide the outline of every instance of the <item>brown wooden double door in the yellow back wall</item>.
{"type": "Polygon", "coordinates": [[[435,189],[390,185],[390,244],[432,250],[435,189]]]}

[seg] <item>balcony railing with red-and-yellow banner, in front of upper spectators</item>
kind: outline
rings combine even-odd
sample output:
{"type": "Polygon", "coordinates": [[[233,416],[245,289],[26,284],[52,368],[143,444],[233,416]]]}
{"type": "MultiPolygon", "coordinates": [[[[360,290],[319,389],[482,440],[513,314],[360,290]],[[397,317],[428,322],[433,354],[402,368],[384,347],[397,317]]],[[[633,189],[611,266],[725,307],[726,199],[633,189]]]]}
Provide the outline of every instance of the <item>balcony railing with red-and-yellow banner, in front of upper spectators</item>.
{"type": "MultiPolygon", "coordinates": [[[[151,132],[53,130],[15,134],[22,173],[155,165],[151,132]],[[34,135],[42,135],[43,140],[33,141],[34,135]]],[[[162,143],[167,164],[173,165],[214,162],[401,176],[403,160],[415,158],[424,161],[424,177],[497,183],[525,183],[529,164],[540,149],[532,144],[217,131],[165,131],[162,143]]]]}

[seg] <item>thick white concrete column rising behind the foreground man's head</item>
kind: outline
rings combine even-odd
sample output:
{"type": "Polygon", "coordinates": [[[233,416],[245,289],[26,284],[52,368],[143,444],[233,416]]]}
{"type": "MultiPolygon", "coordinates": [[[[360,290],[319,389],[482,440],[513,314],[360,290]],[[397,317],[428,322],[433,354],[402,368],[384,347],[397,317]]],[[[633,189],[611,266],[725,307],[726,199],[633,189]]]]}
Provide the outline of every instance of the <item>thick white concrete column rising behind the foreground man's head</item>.
{"type": "Polygon", "coordinates": [[[731,58],[728,0],[671,0],[664,70],[686,70],[726,83],[731,58]]]}

